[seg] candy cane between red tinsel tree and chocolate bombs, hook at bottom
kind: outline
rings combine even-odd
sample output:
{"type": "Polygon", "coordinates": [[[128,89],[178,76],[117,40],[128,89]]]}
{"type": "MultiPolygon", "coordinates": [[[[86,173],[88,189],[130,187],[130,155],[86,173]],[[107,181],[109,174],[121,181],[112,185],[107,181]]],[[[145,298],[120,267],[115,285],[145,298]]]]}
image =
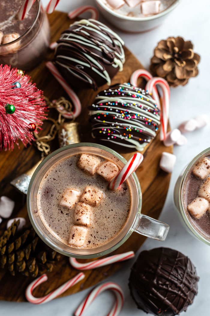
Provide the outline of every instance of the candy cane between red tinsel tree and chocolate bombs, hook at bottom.
{"type": "MultiPolygon", "coordinates": [[[[73,105],[73,115],[76,118],[81,113],[81,103],[77,96],[77,94],[69,87],[65,79],[61,76],[60,72],[57,70],[57,68],[54,66],[54,64],[50,61],[46,63],[47,68],[52,73],[52,75],[57,79],[57,81],[61,84],[61,86],[64,88],[66,93],[69,95],[73,105]]],[[[63,115],[64,117],[71,119],[72,115],[71,113],[66,113],[63,115]]]]}

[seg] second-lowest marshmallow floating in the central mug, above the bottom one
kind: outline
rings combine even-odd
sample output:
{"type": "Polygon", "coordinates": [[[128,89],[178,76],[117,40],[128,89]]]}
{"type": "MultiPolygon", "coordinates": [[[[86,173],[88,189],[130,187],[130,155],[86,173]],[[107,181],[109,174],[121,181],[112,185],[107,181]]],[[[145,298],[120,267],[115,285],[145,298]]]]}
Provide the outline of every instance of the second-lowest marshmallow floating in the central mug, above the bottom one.
{"type": "Polygon", "coordinates": [[[75,223],[78,225],[90,225],[90,216],[91,216],[91,210],[90,205],[79,202],[76,205],[75,212],[74,212],[74,220],[75,223]]]}

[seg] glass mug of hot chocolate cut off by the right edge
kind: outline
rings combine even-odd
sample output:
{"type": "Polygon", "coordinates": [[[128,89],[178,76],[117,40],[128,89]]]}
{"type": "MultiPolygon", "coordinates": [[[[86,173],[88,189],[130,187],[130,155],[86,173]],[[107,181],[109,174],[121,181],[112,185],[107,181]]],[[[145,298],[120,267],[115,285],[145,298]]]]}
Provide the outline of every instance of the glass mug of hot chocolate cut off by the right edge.
{"type": "Polygon", "coordinates": [[[180,174],[174,203],[187,230],[210,245],[210,148],[198,154],[180,174]]]}

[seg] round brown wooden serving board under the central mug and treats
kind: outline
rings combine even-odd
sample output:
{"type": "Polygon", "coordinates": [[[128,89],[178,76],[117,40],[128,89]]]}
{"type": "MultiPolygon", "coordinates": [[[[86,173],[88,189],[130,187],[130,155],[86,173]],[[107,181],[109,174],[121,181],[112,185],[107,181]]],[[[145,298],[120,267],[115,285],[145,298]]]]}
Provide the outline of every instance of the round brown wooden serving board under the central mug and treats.
{"type": "MultiPolygon", "coordinates": [[[[64,29],[68,28],[71,22],[65,13],[58,11],[55,11],[53,14],[49,15],[49,21],[52,31],[52,41],[56,41],[59,38],[60,33],[64,29]]],[[[126,62],[124,64],[124,69],[113,78],[112,84],[118,82],[129,82],[130,75],[133,73],[133,71],[143,68],[142,64],[126,47],[125,55],[126,62]]],[[[53,53],[49,52],[47,59],[51,60],[52,58],[53,53]]],[[[50,100],[59,98],[60,96],[67,97],[64,90],[45,68],[45,61],[43,61],[43,63],[40,64],[36,69],[28,72],[28,74],[32,77],[32,80],[37,83],[38,88],[42,89],[44,91],[44,95],[50,100]]],[[[104,88],[107,87],[101,87],[99,90],[104,88]]],[[[97,91],[94,92],[90,89],[82,89],[77,91],[82,103],[82,113],[79,118],[77,118],[77,121],[81,125],[81,132],[83,135],[85,135],[85,137],[82,137],[82,141],[93,142],[93,139],[90,135],[87,106],[93,103],[97,93],[97,91]]],[[[57,112],[55,110],[50,110],[49,117],[57,118],[57,112]]],[[[44,132],[48,131],[49,128],[50,125],[48,123],[44,124],[44,132]]],[[[137,171],[137,176],[139,177],[141,189],[143,192],[142,213],[156,219],[161,213],[170,182],[170,174],[163,172],[159,168],[159,161],[163,151],[168,151],[170,153],[173,151],[172,146],[165,147],[159,141],[158,136],[153,140],[150,146],[145,149],[144,161],[137,171]]],[[[58,142],[55,140],[52,144],[52,149],[54,150],[58,147],[58,142]]],[[[125,154],[123,156],[128,160],[132,155],[133,153],[125,154]]],[[[39,159],[40,152],[38,152],[34,146],[28,146],[25,148],[23,145],[20,145],[20,149],[15,146],[13,152],[2,151],[0,153],[0,192],[1,195],[6,195],[15,201],[15,209],[11,216],[12,218],[21,216],[25,217],[26,221],[29,222],[26,208],[26,196],[22,196],[19,192],[15,191],[15,189],[9,183],[11,180],[29,170],[35,165],[37,161],[39,161],[39,159]]],[[[0,235],[6,228],[6,223],[7,220],[3,220],[1,223],[0,235]]],[[[130,250],[136,252],[145,239],[146,237],[137,233],[133,233],[132,236],[112,254],[127,252],[130,250]]],[[[82,282],[76,284],[74,287],[68,289],[62,294],[62,296],[76,293],[82,289],[86,289],[94,284],[99,283],[120,269],[122,264],[123,262],[107,265],[95,270],[85,271],[85,279],[82,282]]],[[[71,277],[75,276],[77,273],[77,270],[71,268],[68,258],[61,256],[61,260],[56,264],[53,272],[48,273],[48,281],[36,288],[33,294],[37,297],[44,296],[69,280],[71,277]]],[[[32,278],[30,277],[22,276],[20,274],[11,276],[7,270],[0,270],[0,300],[25,301],[25,289],[31,280],[32,278]]]]}

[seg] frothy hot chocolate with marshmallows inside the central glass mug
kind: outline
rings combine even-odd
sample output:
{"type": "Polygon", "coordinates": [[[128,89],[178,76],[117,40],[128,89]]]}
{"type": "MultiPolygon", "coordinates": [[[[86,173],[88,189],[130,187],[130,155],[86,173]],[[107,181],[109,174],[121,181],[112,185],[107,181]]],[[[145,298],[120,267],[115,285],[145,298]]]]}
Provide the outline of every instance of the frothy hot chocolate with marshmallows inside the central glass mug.
{"type": "Polygon", "coordinates": [[[37,194],[39,216],[47,230],[65,245],[96,248],[113,240],[131,210],[126,180],[108,188],[119,167],[101,155],[69,155],[43,176],[37,194]]]}

